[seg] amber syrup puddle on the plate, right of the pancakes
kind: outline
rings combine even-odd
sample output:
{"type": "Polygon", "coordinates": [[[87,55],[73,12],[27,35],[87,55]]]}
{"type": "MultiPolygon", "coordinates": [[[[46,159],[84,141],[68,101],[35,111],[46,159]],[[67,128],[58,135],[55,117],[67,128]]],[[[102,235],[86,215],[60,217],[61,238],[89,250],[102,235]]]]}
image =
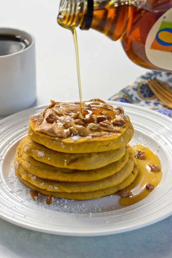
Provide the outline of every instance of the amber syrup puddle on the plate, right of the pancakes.
{"type": "Polygon", "coordinates": [[[152,150],[143,145],[135,145],[133,146],[133,150],[144,151],[145,159],[136,159],[139,167],[139,173],[135,181],[125,188],[125,190],[130,191],[132,196],[122,198],[120,200],[120,204],[123,206],[128,206],[142,200],[150,193],[150,190],[146,189],[146,185],[150,183],[156,187],[161,181],[162,177],[161,171],[153,172],[149,167],[149,164],[151,163],[161,167],[159,158],[153,153],[152,150]]]}

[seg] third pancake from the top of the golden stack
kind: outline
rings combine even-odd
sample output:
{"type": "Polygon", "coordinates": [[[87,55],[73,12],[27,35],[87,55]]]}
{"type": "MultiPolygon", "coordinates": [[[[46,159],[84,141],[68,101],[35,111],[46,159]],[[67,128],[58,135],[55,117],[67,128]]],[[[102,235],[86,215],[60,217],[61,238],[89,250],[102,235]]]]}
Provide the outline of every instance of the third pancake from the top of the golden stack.
{"type": "Polygon", "coordinates": [[[128,161],[128,152],[130,150],[131,148],[128,148],[124,156],[118,161],[93,170],[76,170],[54,167],[35,160],[33,157],[22,152],[19,148],[17,148],[14,163],[19,162],[22,167],[28,170],[31,174],[43,179],[64,182],[91,182],[109,177],[120,171],[128,161]]]}

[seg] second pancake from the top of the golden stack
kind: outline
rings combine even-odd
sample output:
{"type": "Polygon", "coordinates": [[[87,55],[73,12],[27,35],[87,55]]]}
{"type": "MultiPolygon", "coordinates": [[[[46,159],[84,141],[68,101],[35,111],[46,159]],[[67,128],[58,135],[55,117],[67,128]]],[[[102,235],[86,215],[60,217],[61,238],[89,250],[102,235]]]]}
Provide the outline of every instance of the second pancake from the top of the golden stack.
{"type": "Polygon", "coordinates": [[[90,170],[104,167],[121,159],[125,154],[126,148],[123,147],[104,153],[69,154],[46,148],[31,140],[28,136],[25,136],[21,139],[17,150],[20,151],[21,154],[26,153],[34,159],[53,165],[54,167],[90,170]]]}

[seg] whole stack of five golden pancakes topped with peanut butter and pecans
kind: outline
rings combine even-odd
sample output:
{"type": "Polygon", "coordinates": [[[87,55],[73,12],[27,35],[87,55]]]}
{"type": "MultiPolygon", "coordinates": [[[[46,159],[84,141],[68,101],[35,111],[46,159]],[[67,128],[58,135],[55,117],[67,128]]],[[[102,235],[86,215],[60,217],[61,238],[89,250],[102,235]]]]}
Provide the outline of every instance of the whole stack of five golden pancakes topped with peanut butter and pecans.
{"type": "Polygon", "coordinates": [[[15,155],[15,173],[30,188],[74,200],[121,191],[138,174],[128,145],[133,126],[122,107],[99,99],[51,101],[30,118],[28,135],[15,155]]]}

